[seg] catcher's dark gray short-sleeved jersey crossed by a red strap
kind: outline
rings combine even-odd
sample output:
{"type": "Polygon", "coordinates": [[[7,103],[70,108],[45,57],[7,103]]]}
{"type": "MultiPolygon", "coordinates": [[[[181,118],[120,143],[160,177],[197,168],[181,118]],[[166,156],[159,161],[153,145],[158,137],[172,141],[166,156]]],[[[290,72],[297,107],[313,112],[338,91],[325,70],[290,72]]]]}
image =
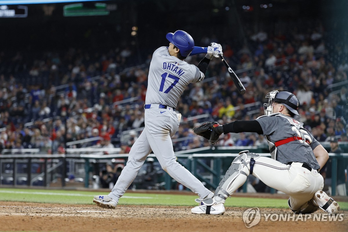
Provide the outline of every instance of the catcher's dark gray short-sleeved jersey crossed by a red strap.
{"type": "Polygon", "coordinates": [[[292,141],[276,147],[271,152],[272,158],[281,163],[300,162],[307,163],[313,169],[319,169],[320,166],[315,158],[313,150],[320,143],[304,129],[303,123],[288,117],[281,113],[274,113],[269,116],[261,116],[256,119],[266,136],[269,147],[282,139],[297,136],[303,140],[292,141]],[[309,143],[305,142],[308,141],[309,143]]]}

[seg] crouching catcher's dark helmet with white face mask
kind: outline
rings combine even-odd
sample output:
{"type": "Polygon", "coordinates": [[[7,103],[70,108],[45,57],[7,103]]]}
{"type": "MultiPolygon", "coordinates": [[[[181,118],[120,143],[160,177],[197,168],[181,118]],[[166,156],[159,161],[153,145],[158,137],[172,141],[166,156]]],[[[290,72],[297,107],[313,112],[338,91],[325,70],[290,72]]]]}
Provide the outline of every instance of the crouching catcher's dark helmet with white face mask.
{"type": "Polygon", "coordinates": [[[263,104],[264,114],[270,115],[273,113],[273,102],[277,102],[285,105],[285,107],[292,113],[299,115],[297,109],[299,108],[300,102],[297,97],[287,90],[274,90],[266,95],[268,98],[268,103],[263,104]]]}

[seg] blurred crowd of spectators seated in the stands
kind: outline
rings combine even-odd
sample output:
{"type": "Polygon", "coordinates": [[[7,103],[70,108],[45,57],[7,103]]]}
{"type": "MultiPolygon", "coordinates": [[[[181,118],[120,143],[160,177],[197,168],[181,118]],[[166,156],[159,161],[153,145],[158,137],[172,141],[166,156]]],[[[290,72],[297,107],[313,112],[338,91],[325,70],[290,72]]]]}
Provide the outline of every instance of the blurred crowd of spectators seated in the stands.
{"type": "MultiPolygon", "coordinates": [[[[222,44],[246,94],[238,93],[222,62],[213,59],[205,80],[189,85],[176,107],[182,122],[173,137],[174,150],[208,146],[192,132],[201,122],[228,123],[263,115],[264,96],[275,89],[292,91],[299,98],[297,119],[318,141],[331,136],[347,141],[348,44],[335,41],[320,23],[310,28],[248,31],[240,48],[214,37],[196,39],[196,46],[222,44]]],[[[105,52],[69,48],[31,57],[0,53],[0,149],[64,153],[65,142],[95,138],[70,147],[120,147],[120,153],[128,153],[144,127],[151,61],[149,54],[144,64],[134,66],[135,55],[128,47],[105,52]]],[[[185,61],[198,64],[202,57],[185,61]]],[[[257,134],[242,133],[222,135],[219,145],[267,142],[257,134]]]]}

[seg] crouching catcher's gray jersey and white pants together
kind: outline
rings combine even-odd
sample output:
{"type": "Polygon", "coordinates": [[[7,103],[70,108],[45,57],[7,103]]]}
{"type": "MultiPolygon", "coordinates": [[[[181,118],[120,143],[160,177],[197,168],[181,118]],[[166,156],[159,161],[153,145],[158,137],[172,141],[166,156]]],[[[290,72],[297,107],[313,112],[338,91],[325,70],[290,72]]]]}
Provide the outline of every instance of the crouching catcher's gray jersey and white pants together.
{"type": "Polygon", "coordinates": [[[276,160],[260,157],[255,161],[260,165],[254,166],[253,175],[266,185],[290,195],[291,208],[297,210],[324,187],[324,179],[318,173],[320,166],[313,153],[320,143],[302,127],[303,123],[284,114],[261,116],[256,121],[262,127],[270,150],[274,149],[271,154],[276,160]],[[275,142],[293,136],[303,139],[274,147],[275,142]],[[302,167],[303,163],[309,168],[302,167]]]}

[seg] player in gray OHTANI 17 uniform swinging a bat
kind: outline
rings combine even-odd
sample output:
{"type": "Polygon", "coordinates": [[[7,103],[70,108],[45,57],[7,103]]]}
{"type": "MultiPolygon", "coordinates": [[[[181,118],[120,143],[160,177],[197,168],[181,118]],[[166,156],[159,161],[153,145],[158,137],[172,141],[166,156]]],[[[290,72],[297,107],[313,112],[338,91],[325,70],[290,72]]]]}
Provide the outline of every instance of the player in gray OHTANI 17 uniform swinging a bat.
{"type": "Polygon", "coordinates": [[[93,202],[103,208],[114,209],[119,198],[133,182],[139,169],[151,151],[158,162],[177,182],[191,189],[199,198],[213,197],[213,193],[176,162],[171,137],[176,133],[181,114],[176,113],[176,105],[185,87],[204,79],[212,57],[222,54],[221,45],[211,43],[208,47],[195,47],[187,32],[168,33],[169,47],[160,47],[152,55],[148,89],[145,99],[145,128],[129,152],[125,168],[108,195],[95,196],[93,202]],[[206,53],[195,66],[184,59],[189,55],[206,53]]]}

